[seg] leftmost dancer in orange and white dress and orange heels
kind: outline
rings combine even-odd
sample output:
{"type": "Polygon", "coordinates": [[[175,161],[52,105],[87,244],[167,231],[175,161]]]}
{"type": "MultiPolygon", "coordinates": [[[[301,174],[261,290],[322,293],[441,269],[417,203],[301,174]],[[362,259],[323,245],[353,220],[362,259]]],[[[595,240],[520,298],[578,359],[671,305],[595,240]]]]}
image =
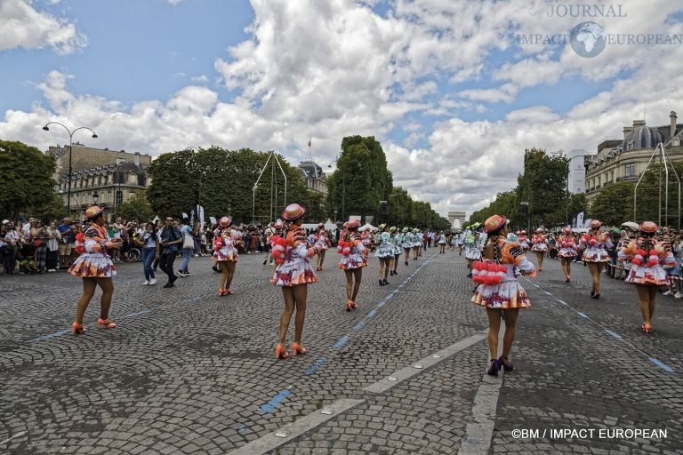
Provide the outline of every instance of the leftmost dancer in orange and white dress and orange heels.
{"type": "Polygon", "coordinates": [[[120,238],[109,238],[103,213],[104,208],[96,205],[85,211],[85,218],[92,223],[84,234],[85,252],[68,267],[68,273],[83,279],[83,294],[76,306],[76,321],[71,324],[71,333],[74,335],[85,332],[85,309],[90,304],[97,286],[102,290],[97,327],[113,329],[117,326],[116,323],[109,321],[109,307],[114,295],[114,283],[111,278],[117,275],[117,272],[107,250],[120,249],[123,241],[120,238]]]}

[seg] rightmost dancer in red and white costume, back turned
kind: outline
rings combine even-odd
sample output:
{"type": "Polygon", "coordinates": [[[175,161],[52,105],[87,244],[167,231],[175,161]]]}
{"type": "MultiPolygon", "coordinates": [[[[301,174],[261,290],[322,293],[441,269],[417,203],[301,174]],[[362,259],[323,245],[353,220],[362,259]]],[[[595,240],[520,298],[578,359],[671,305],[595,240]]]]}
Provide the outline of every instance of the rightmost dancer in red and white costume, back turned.
{"type": "Polygon", "coordinates": [[[662,242],[655,240],[657,225],[652,221],[644,221],[640,225],[637,240],[618,252],[619,260],[629,260],[631,270],[626,277],[626,283],[633,283],[638,290],[640,313],[643,324],[640,330],[652,333],[652,316],[655,314],[655,298],[657,290],[663,284],[669,283],[664,267],[675,267],[676,259],[671,251],[667,251],[662,242]]]}

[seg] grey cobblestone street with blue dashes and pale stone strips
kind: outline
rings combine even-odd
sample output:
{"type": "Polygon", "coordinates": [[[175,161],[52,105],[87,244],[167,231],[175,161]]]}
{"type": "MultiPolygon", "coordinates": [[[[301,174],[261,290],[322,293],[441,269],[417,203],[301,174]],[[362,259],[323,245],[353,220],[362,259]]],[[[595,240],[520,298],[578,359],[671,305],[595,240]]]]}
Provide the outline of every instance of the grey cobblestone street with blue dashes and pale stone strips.
{"type": "Polygon", "coordinates": [[[309,286],[308,354],[277,361],[284,304],[263,258],[240,257],[225,297],[207,258],[172,289],[161,272],[142,286],[141,263],[118,266],[117,328],[96,329],[98,291],[81,337],[69,330],[80,280],[0,276],[0,452],[683,454],[683,299],[660,294],[644,335],[631,285],[603,275],[591,299],[586,267],[565,283],[546,259],[520,280],[534,307],[515,370],[491,378],[462,256],[428,249],[386,286],[372,257],[346,312],[329,251],[309,286]]]}

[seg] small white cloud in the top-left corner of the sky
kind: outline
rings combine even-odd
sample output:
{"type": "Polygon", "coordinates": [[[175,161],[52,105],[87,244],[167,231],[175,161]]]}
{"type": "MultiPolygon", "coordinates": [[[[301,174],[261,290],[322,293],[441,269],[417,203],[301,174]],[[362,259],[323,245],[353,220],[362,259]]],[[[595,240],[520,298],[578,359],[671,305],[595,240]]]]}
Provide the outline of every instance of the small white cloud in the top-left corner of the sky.
{"type": "Polygon", "coordinates": [[[56,52],[70,53],[88,43],[87,38],[76,31],[76,25],[38,12],[26,0],[0,0],[0,18],[3,18],[0,51],[51,47],[56,52]]]}

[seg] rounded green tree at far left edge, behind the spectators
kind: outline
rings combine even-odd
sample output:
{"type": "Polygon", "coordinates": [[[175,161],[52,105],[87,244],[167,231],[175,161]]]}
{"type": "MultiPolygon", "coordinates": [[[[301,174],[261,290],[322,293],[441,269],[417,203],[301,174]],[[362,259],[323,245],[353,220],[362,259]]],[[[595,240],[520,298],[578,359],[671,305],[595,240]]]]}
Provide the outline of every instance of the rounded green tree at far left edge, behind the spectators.
{"type": "Polygon", "coordinates": [[[0,140],[0,212],[12,219],[52,204],[56,164],[35,147],[19,141],[0,140]]]}

